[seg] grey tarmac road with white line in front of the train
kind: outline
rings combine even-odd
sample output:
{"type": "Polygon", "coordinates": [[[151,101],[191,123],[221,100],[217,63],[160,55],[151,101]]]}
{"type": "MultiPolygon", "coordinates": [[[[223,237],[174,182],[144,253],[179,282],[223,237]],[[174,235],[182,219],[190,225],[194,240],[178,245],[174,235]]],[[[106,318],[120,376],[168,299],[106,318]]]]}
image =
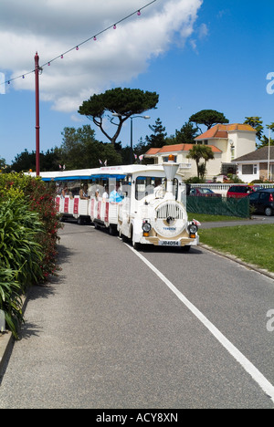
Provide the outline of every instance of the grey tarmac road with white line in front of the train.
{"type": "Polygon", "coordinates": [[[273,280],[202,248],[139,256],[90,226],[61,234],[62,272],[31,291],[1,409],[273,408],[273,280]]]}

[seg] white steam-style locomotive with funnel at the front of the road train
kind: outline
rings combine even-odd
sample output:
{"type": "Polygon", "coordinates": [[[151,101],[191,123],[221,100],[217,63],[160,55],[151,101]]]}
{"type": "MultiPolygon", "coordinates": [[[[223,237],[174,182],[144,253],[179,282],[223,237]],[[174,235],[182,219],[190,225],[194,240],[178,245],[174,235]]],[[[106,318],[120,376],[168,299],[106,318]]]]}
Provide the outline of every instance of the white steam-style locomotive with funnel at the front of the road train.
{"type": "Polygon", "coordinates": [[[131,185],[123,189],[117,229],[134,248],[163,245],[189,250],[199,244],[199,224],[188,222],[186,187],[176,175],[178,166],[171,158],[163,168],[147,166],[145,171],[132,172],[131,185]]]}

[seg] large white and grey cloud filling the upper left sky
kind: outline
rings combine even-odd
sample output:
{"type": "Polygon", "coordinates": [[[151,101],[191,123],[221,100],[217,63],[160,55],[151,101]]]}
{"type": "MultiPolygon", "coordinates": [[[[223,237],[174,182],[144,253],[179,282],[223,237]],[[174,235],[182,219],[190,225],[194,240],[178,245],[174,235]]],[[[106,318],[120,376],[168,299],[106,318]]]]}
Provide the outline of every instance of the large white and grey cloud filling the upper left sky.
{"type": "MultiPolygon", "coordinates": [[[[0,71],[15,78],[98,34],[149,0],[1,0],[0,71]]],[[[156,0],[109,29],[97,41],[79,46],[45,65],[40,78],[41,99],[53,109],[75,111],[84,99],[115,86],[126,86],[145,72],[152,57],[172,43],[184,46],[202,0],[156,0]]],[[[201,28],[205,36],[206,26],[201,28]]],[[[12,82],[15,89],[34,89],[33,73],[12,82]]]]}

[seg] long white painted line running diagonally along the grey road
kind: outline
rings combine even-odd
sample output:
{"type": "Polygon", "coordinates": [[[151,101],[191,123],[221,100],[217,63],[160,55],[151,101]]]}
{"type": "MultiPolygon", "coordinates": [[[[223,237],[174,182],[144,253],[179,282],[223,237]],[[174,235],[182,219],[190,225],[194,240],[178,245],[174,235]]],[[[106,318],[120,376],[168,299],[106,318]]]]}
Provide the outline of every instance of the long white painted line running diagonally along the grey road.
{"type": "Polygon", "coordinates": [[[248,372],[249,375],[255,380],[259,387],[269,396],[271,401],[274,403],[274,386],[267,380],[263,374],[227,339],[222,332],[217,329],[213,323],[211,323],[208,318],[205,318],[203,313],[198,310],[184,295],[180,292],[171,282],[168,280],[163,274],[155,267],[152,263],[150,263],[144,256],[142,256],[139,252],[135,251],[132,246],[127,245],[132,252],[139,256],[143,263],[146,264],[155,275],[157,275],[163,283],[168,286],[183,303],[184,306],[187,307],[200,322],[203,323],[205,328],[207,328],[212,335],[222,344],[222,346],[227,349],[227,351],[237,360],[237,362],[248,372]]]}

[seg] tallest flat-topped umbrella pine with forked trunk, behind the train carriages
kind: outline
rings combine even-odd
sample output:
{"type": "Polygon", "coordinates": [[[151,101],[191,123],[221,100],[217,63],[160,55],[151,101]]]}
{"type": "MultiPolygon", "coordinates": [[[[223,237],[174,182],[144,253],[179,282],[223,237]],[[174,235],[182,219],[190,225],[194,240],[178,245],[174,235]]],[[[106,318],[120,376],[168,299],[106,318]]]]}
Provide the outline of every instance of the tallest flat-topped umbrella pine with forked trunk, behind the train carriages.
{"type": "Polygon", "coordinates": [[[112,145],[117,141],[123,123],[135,114],[142,114],[148,109],[155,109],[159,101],[156,92],[143,92],[141,89],[110,89],[100,95],[93,95],[79,107],[79,114],[88,117],[98,126],[101,132],[111,141],[112,145]],[[117,116],[118,124],[113,122],[113,117],[109,116],[111,123],[117,130],[111,136],[104,128],[103,119],[106,112],[117,116]]]}

